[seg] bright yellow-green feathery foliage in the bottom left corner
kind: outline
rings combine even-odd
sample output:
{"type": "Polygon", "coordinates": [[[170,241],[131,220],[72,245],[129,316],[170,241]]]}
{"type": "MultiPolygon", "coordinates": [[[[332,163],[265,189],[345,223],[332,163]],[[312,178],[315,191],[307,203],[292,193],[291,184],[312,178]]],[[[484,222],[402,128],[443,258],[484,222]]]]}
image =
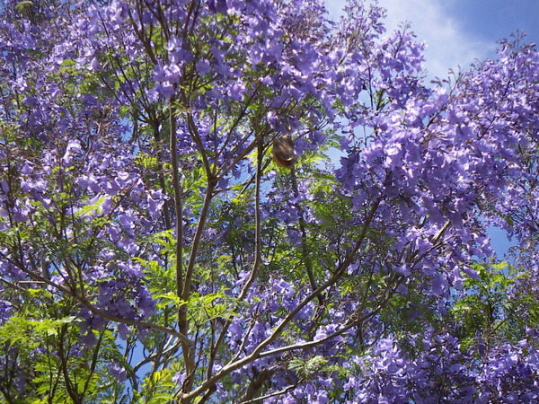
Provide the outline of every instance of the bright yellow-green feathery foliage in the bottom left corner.
{"type": "MultiPolygon", "coordinates": [[[[28,300],[36,303],[40,290],[29,291],[28,300]]],[[[32,303],[25,305],[35,308],[32,303]]],[[[97,345],[81,349],[75,346],[80,337],[75,316],[55,316],[55,309],[60,309],[57,314],[61,315],[62,307],[51,302],[41,303],[40,308],[40,312],[13,316],[0,327],[2,355],[16,358],[19,366],[33,366],[32,379],[27,381],[32,394],[25,394],[20,402],[75,402],[70,390],[77,391],[88,402],[106,402],[104,398],[114,391],[107,365],[112,358],[121,357],[112,333],[104,331],[100,335],[94,331],[97,345]],[[51,352],[55,355],[50,355],[51,352]],[[103,400],[98,400],[99,397],[103,400]]]]}

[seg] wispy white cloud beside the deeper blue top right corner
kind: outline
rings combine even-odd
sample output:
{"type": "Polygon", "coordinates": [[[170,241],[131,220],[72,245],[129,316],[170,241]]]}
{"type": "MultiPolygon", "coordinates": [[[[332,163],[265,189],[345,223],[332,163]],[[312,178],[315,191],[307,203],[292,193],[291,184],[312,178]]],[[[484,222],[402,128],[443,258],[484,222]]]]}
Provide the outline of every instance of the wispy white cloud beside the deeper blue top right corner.
{"type": "MultiPolygon", "coordinates": [[[[457,16],[450,15],[447,4],[452,0],[379,0],[387,10],[385,26],[388,32],[397,29],[402,22],[410,22],[417,40],[425,41],[425,67],[429,77],[444,78],[449,69],[462,70],[477,59],[488,57],[494,45],[473,38],[459,23],[457,16]],[[446,4],[446,6],[444,6],[446,4]]],[[[344,0],[326,0],[328,9],[335,14],[344,0]]]]}

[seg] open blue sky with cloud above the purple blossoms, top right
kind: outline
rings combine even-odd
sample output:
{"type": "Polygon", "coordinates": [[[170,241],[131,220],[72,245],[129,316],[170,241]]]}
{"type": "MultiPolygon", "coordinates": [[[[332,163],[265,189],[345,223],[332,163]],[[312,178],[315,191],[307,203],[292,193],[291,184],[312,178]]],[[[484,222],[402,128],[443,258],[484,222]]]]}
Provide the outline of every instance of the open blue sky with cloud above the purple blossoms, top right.
{"type": "MultiPolygon", "coordinates": [[[[337,15],[344,0],[326,0],[337,15]]],[[[446,77],[449,68],[475,59],[494,57],[496,42],[511,32],[526,31],[526,40],[539,43],[539,0],[380,0],[387,10],[386,27],[411,22],[424,40],[429,76],[446,77]]]]}

